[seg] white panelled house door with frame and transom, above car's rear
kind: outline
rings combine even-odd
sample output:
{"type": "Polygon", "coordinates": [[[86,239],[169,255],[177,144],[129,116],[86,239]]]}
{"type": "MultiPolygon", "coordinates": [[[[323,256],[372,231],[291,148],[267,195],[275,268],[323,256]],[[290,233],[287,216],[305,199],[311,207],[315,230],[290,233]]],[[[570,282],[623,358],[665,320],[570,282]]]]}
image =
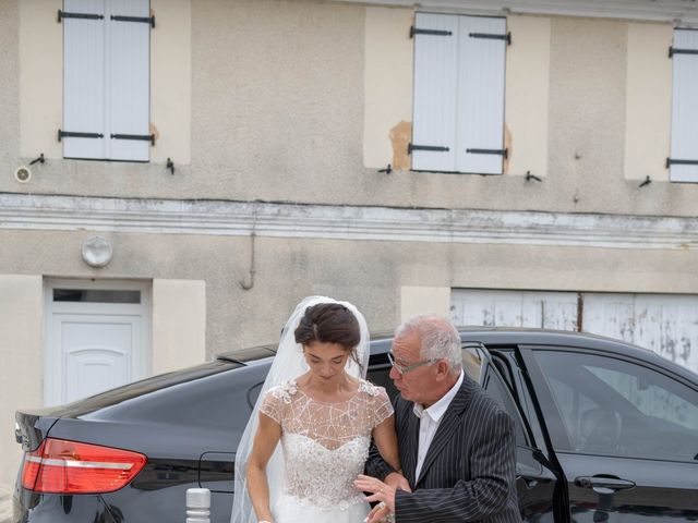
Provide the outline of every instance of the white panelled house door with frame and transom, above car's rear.
{"type": "Polygon", "coordinates": [[[52,280],[46,301],[45,404],[68,403],[147,376],[148,285],[52,280]]]}

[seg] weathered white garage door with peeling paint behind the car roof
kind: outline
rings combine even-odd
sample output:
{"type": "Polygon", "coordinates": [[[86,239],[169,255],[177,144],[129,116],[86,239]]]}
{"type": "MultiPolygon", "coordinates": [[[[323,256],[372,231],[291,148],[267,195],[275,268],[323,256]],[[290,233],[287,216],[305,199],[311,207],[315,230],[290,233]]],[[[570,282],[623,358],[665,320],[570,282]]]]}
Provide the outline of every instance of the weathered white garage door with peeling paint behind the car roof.
{"type": "Polygon", "coordinates": [[[457,325],[585,331],[650,349],[698,372],[698,296],[454,289],[457,325]],[[579,317],[581,313],[581,318],[579,317]]]}

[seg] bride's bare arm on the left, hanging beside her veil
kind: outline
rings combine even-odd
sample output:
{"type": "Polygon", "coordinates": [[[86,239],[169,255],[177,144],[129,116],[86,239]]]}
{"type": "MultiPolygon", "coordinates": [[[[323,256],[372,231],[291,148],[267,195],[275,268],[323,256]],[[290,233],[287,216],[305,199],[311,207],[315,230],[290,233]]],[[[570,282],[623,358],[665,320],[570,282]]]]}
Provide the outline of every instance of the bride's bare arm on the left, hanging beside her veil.
{"type": "Polygon", "coordinates": [[[269,484],[266,479],[266,464],[281,437],[281,426],[266,414],[260,413],[260,426],[254,435],[252,452],[245,471],[248,492],[258,521],[274,521],[269,508],[269,484]]]}

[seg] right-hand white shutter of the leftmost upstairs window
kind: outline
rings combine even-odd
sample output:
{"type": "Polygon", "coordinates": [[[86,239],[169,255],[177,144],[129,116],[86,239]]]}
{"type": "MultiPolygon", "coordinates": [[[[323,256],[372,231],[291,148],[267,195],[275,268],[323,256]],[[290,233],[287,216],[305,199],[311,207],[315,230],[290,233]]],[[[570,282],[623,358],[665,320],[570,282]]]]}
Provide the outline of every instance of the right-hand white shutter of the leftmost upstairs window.
{"type": "Polygon", "coordinates": [[[149,1],[109,0],[107,11],[107,155],[112,160],[148,161],[151,142],[134,137],[151,134],[151,25],[112,16],[147,19],[149,1]]]}

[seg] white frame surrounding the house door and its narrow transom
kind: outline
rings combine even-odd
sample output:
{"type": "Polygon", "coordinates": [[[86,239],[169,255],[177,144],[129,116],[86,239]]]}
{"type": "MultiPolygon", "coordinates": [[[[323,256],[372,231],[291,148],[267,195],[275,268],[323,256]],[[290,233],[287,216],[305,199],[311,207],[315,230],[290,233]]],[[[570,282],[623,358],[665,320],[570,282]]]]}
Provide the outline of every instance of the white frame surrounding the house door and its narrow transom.
{"type": "Polygon", "coordinates": [[[58,387],[62,384],[62,378],[57,379],[57,374],[64,375],[60,365],[58,354],[59,348],[53,345],[53,314],[68,313],[81,314],[85,316],[118,316],[124,314],[129,316],[139,315],[141,317],[140,353],[133,354],[132,380],[143,379],[151,374],[153,340],[152,340],[152,293],[153,283],[148,280],[110,280],[110,279],[68,279],[68,278],[44,278],[44,405],[57,403],[61,392],[58,387]],[[60,305],[53,302],[53,289],[99,289],[99,290],[132,290],[141,291],[140,304],[123,303],[82,303],[62,302],[60,305]]]}

